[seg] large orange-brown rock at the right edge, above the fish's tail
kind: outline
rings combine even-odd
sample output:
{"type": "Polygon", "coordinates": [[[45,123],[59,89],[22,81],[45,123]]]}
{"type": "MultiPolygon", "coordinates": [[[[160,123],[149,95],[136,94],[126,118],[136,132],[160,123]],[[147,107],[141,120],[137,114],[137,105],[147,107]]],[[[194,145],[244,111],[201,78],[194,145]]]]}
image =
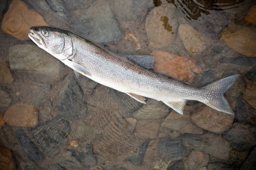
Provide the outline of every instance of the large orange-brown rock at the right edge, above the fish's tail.
{"type": "Polygon", "coordinates": [[[256,28],[245,26],[239,29],[225,29],[221,37],[231,49],[248,57],[256,56],[256,28]]]}

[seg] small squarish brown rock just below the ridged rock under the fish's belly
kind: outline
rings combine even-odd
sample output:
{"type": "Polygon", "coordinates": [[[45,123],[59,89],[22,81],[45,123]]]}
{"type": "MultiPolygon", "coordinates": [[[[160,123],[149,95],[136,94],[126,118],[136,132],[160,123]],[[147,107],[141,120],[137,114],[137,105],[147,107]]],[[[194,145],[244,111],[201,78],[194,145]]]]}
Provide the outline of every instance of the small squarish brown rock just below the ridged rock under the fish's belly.
{"type": "Polygon", "coordinates": [[[139,120],[136,124],[135,135],[156,139],[160,128],[160,120],[139,120]]]}

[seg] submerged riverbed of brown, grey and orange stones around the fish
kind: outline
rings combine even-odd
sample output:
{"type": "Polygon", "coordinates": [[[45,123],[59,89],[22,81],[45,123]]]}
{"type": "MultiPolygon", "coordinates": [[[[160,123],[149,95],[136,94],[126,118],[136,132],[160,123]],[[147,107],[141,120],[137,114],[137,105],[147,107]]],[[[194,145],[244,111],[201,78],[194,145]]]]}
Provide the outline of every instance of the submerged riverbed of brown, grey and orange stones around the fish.
{"type": "Polygon", "coordinates": [[[254,1],[0,1],[0,169],[256,169],[254,1]],[[75,31],[202,87],[240,74],[235,115],[138,103],[39,49],[35,25],[75,31]]]}

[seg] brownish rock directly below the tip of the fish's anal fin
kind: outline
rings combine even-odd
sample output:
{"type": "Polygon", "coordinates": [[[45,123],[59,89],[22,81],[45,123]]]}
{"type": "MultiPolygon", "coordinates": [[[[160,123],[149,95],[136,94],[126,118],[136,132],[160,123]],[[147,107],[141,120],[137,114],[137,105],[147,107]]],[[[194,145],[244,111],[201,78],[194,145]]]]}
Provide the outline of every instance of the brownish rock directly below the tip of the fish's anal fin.
{"type": "Polygon", "coordinates": [[[184,115],[180,115],[175,111],[169,113],[169,115],[164,119],[162,127],[167,127],[172,130],[181,130],[190,123],[190,115],[184,112],[184,115]]]}

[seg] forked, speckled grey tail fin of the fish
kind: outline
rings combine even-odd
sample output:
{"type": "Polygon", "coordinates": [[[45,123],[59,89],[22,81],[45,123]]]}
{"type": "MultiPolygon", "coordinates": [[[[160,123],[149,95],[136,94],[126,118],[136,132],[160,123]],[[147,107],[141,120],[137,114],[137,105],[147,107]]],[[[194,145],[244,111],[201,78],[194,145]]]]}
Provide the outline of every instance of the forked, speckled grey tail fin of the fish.
{"type": "Polygon", "coordinates": [[[203,87],[202,89],[206,92],[206,100],[202,102],[207,106],[212,107],[212,109],[233,115],[233,110],[230,108],[227,100],[224,98],[224,92],[227,91],[227,89],[230,88],[234,82],[236,82],[238,77],[239,74],[228,76],[203,87]]]}

